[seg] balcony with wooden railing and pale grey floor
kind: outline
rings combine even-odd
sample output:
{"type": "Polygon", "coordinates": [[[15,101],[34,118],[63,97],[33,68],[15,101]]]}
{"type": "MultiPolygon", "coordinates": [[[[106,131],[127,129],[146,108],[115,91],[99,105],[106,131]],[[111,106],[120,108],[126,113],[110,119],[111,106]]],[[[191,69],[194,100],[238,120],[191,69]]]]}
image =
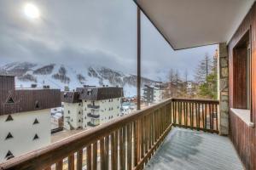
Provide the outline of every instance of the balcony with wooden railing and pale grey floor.
{"type": "MultiPolygon", "coordinates": [[[[214,134],[218,133],[216,112],[217,100],[167,99],[15,157],[0,167],[20,170],[74,169],[74,166],[77,169],[240,169],[241,162],[230,139],[214,134]]],[[[88,125],[95,126],[90,122],[88,125]]]]}

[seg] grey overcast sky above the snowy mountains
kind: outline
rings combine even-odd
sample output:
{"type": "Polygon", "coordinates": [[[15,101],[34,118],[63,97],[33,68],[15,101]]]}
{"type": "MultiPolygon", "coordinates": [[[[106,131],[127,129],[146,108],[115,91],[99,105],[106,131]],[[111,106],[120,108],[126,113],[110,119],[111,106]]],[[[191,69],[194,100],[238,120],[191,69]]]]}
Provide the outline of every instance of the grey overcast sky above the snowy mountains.
{"type": "MultiPolygon", "coordinates": [[[[104,65],[137,71],[137,7],[132,0],[1,0],[0,65],[14,61],[104,65]],[[40,11],[24,14],[26,3],[40,11]]],[[[142,17],[143,76],[157,78],[170,68],[194,75],[198,61],[216,45],[173,51],[150,21],[142,17]]]]}

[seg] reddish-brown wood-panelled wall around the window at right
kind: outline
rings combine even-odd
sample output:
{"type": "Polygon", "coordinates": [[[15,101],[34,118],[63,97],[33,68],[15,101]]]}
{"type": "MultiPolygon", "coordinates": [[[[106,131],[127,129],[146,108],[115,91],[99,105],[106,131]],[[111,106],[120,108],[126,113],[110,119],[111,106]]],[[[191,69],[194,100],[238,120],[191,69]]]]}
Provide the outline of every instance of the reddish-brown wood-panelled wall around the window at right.
{"type": "MultiPolygon", "coordinates": [[[[252,47],[252,121],[256,121],[256,5],[253,7],[242,21],[241,26],[237,29],[235,35],[229,42],[229,69],[230,69],[230,107],[236,106],[237,99],[234,94],[239,93],[236,88],[234,69],[237,66],[234,61],[233,49],[241,37],[251,28],[251,47],[252,47]]],[[[241,157],[247,169],[256,169],[256,131],[255,127],[248,127],[239,117],[230,111],[230,139],[234,143],[237,153],[241,157]]]]}

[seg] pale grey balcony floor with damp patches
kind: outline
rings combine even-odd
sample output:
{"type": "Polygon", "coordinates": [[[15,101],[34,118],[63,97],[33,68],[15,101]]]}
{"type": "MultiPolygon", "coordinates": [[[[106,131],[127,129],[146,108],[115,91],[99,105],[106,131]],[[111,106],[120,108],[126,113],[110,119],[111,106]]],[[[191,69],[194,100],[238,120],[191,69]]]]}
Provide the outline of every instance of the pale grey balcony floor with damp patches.
{"type": "Polygon", "coordinates": [[[145,169],[240,170],[243,167],[229,138],[174,127],[145,169]]]}

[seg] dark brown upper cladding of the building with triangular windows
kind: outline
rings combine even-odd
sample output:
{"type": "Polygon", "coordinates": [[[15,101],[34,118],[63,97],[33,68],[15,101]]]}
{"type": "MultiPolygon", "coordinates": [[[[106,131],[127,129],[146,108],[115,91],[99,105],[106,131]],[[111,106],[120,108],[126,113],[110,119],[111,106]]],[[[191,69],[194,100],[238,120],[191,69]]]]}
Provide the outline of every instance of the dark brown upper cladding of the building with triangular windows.
{"type": "Polygon", "coordinates": [[[59,89],[15,89],[15,77],[0,76],[0,116],[61,106],[59,89]]]}

